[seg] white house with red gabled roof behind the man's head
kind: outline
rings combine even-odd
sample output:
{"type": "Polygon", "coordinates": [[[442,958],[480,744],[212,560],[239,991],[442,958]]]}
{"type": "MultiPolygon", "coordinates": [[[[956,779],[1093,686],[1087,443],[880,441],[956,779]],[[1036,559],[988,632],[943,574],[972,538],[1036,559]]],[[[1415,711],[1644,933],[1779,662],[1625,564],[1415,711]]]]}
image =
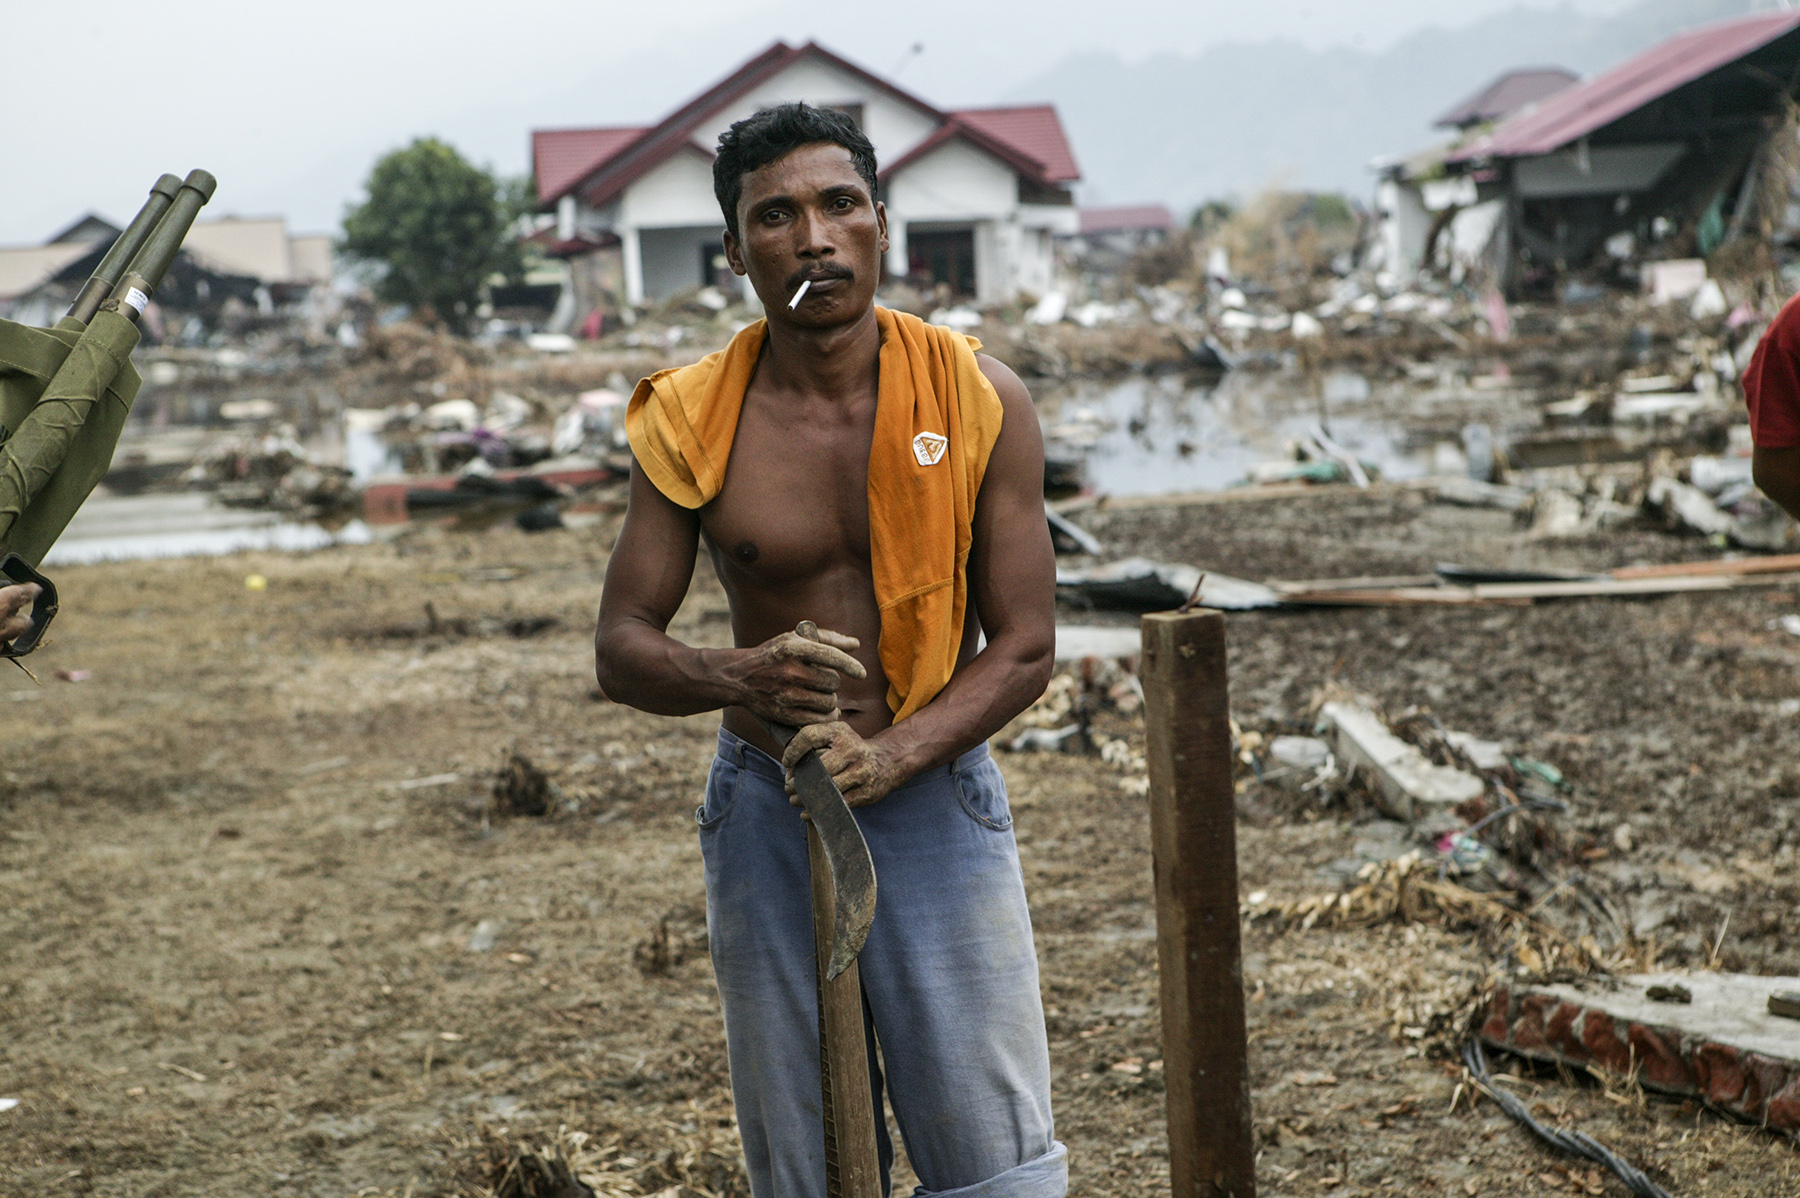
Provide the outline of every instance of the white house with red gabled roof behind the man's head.
{"type": "Polygon", "coordinates": [[[538,234],[571,266],[574,318],[718,286],[725,266],[713,149],[734,121],[806,101],[850,113],[875,144],[887,275],[976,302],[1051,288],[1053,239],[1075,234],[1080,167],[1049,104],[940,110],[808,41],[776,41],[648,128],[536,130],[538,234]]]}

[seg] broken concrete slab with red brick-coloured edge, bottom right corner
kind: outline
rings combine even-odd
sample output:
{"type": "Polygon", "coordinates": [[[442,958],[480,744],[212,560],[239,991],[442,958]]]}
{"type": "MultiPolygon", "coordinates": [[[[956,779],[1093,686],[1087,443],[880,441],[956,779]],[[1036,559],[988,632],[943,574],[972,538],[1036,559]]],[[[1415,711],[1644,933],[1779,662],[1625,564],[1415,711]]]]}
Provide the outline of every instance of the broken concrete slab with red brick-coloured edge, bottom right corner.
{"type": "Polygon", "coordinates": [[[1665,1094],[1800,1131],[1800,1022],[1769,995],[1800,979],[1748,973],[1631,973],[1575,986],[1496,989],[1481,1040],[1539,1061],[1636,1076],[1665,1094]],[[1679,997],[1669,1002],[1649,991],[1679,997]]]}

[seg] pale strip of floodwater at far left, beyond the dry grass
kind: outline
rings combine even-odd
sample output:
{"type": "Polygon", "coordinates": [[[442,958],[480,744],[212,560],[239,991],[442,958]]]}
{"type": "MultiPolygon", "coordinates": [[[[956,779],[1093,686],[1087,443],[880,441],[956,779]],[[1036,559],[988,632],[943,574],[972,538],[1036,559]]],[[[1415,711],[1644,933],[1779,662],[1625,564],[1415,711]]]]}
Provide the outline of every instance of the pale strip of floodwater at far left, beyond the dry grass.
{"type": "Polygon", "coordinates": [[[209,558],[245,549],[304,550],[328,545],[365,545],[373,540],[362,520],[329,531],[286,520],[277,513],[218,507],[211,496],[95,495],[61,540],[43,558],[45,567],[142,558],[209,558]]]}

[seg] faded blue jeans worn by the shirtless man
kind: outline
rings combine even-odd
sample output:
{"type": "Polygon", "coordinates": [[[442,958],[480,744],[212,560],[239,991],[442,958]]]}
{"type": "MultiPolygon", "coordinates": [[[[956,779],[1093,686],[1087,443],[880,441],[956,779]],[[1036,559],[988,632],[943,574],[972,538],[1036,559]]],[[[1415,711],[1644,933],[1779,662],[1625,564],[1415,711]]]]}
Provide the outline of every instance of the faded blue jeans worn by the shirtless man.
{"type": "MultiPolygon", "coordinates": [[[[823,1198],[812,874],[781,763],[720,729],[698,822],[751,1193],[823,1198]]],[[[859,961],[882,1193],[886,1088],[922,1182],[914,1198],[1062,1198],[1031,919],[988,747],[857,808],[857,822],[877,878],[859,961]]]]}

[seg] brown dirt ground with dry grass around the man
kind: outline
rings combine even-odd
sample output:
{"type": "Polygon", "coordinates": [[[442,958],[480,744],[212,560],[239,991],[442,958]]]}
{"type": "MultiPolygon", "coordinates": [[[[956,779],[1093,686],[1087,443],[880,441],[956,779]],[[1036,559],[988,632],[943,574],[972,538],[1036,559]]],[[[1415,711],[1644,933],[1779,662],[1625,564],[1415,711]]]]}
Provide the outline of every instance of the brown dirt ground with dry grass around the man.
{"type": "MultiPolygon", "coordinates": [[[[1246,577],[1714,552],[1658,532],[1530,543],[1408,491],[1082,520],[1109,549],[1246,577]]],[[[20,1099],[0,1113],[0,1194],[472,1194],[506,1142],[558,1128],[592,1137],[621,1194],[743,1193],[693,831],[715,720],[594,698],[608,540],[428,529],[59,574],[41,685],[0,678],[0,1095],[20,1099]],[[556,782],[549,815],[497,809],[511,750],[556,782]]],[[[1746,590],[1237,613],[1233,711],[1305,730],[1336,682],[1550,761],[1631,952],[1800,973],[1800,721],[1782,707],[1800,639],[1771,628],[1796,608],[1746,590]]],[[[673,631],[725,642],[704,567],[673,631]]],[[[1132,720],[1103,721],[1141,745],[1132,720]]],[[[1145,800],[1096,757],[1001,764],[1073,1193],[1165,1193],[1145,800]]],[[[1244,894],[1336,889],[1372,827],[1354,800],[1251,781],[1242,808],[1244,894]]],[[[1244,935],[1260,1193],[1625,1193],[1490,1103],[1453,1104],[1458,1015],[1521,968],[1501,939],[1271,919],[1244,935]]],[[[1496,1068],[1670,1193],[1800,1194],[1800,1155],[1755,1128],[1496,1068]]]]}

